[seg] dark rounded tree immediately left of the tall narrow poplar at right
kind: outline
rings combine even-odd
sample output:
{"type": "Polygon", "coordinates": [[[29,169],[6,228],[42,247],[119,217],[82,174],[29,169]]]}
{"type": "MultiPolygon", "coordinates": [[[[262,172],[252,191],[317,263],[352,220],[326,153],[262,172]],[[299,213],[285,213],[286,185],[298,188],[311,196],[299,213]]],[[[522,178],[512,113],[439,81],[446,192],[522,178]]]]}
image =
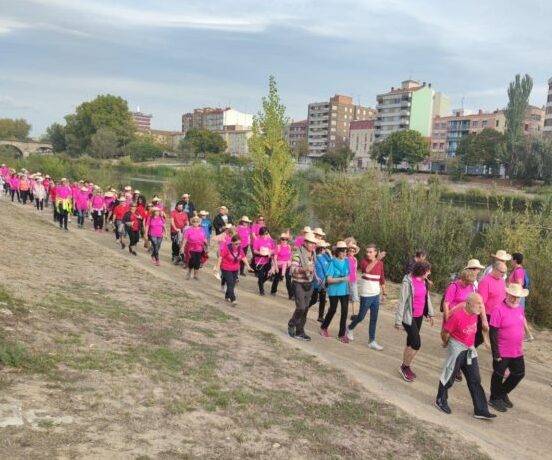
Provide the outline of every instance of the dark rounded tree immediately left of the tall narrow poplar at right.
{"type": "Polygon", "coordinates": [[[456,156],[465,166],[484,165],[487,174],[496,174],[501,164],[504,134],[485,128],[477,134],[464,136],[456,149],[456,156]]]}

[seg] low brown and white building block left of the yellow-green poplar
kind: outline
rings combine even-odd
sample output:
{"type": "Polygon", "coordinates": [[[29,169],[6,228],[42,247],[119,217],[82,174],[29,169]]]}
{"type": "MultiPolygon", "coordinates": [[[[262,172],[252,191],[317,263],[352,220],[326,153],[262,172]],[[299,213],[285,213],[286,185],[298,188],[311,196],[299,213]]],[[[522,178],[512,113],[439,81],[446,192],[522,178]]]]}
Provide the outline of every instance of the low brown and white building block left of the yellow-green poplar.
{"type": "Polygon", "coordinates": [[[225,126],[244,126],[249,128],[253,125],[253,115],[238,112],[231,107],[225,109],[204,107],[194,109],[193,113],[182,115],[182,132],[186,133],[191,128],[206,128],[210,131],[222,131],[225,126]]]}

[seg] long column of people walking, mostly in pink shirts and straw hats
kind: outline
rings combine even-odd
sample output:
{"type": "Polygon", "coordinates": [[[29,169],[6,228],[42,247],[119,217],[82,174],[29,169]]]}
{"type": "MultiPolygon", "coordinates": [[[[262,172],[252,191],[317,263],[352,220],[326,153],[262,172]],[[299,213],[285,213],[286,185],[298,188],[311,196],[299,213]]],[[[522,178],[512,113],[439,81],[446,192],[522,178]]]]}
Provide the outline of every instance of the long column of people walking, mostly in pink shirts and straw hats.
{"type": "MultiPolygon", "coordinates": [[[[236,286],[240,277],[256,276],[260,296],[265,296],[268,281],[272,296],[283,283],[288,299],[295,303],[287,324],[290,337],[311,340],[305,325],[309,309],[317,306],[319,334],[329,338],[329,328],[339,307],[340,343],[353,341],[355,329],[369,314],[368,347],[383,350],[376,341],[376,333],[379,307],[387,295],[386,254],[374,243],[366,245],[364,255],[359,257],[360,247],[355,238],[332,245],[319,227],[304,227],[295,237],[286,230],[273,239],[263,216],[257,216],[255,221],[242,216],[235,222],[228,209],[221,206],[211,221],[207,211],[196,210],[189,194],[182,195],[169,210],[158,196],[148,202],[139,190],[130,186],[118,191],[84,181],[69,183],[66,178],[54,181],[48,175],[16,172],[4,164],[0,165],[0,187],[12,202],[34,203],[37,212],[51,206],[60,229],[67,231],[71,217],[76,217],[80,229],[89,219],[96,232],[112,230],[115,242],[123,250],[128,246],[133,256],[137,255],[136,248],[142,239],[156,266],[160,265],[162,242],[170,236],[172,262],[184,265],[186,279],[199,279],[214,243],[213,274],[230,305],[237,305],[236,286]]],[[[420,332],[424,319],[430,326],[435,323],[430,275],[426,252],[417,251],[406,265],[395,312],[395,327],[406,334],[399,373],[408,383],[417,378],[412,363],[422,346],[420,332]]],[[[523,255],[510,255],[504,250],[492,254],[492,263],[487,268],[477,259],[469,260],[449,284],[440,308],[441,339],[447,357],[435,401],[439,410],[451,413],[448,391],[455,381],[462,380],[462,375],[472,398],[474,417],[494,418],[489,405],[499,412],[513,408],[509,394],[525,375],[523,342],[533,340],[524,310],[529,285],[523,255]],[[507,276],[509,261],[512,269],[507,276]],[[478,367],[481,344],[490,348],[493,357],[488,400],[478,367]]]]}

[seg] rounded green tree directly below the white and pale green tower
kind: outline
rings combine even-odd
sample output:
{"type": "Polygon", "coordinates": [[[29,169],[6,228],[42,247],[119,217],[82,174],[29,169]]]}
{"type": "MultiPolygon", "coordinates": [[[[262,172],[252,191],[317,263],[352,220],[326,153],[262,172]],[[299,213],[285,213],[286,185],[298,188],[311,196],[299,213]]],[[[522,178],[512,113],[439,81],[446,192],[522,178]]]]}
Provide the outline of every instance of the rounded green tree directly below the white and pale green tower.
{"type": "Polygon", "coordinates": [[[398,165],[406,161],[415,166],[429,156],[429,140],[412,129],[395,131],[376,144],[370,156],[380,164],[398,165]]]}

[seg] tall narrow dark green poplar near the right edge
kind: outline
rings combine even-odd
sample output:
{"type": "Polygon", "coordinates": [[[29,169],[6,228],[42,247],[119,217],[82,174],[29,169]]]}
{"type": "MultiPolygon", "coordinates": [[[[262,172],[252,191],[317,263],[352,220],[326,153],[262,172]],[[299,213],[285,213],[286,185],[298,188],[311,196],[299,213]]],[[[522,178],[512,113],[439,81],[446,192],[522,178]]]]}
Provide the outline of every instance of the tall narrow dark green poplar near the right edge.
{"type": "Polygon", "coordinates": [[[529,107],[529,96],[533,89],[533,79],[525,74],[516,75],[508,87],[508,105],[506,107],[506,143],[503,148],[503,161],[506,174],[517,177],[522,168],[517,147],[523,137],[523,120],[529,107]]]}

